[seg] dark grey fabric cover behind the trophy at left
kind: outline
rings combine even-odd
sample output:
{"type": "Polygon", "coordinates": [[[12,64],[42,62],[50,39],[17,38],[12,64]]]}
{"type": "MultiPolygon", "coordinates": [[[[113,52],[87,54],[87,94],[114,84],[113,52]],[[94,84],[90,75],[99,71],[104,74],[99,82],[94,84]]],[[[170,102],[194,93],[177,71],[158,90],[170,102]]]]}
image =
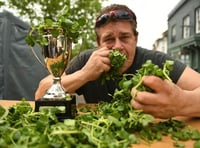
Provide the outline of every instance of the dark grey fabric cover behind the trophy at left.
{"type": "MultiPolygon", "coordinates": [[[[0,13],[0,99],[34,100],[42,78],[49,73],[25,42],[30,25],[8,11],[0,13]]],[[[35,53],[43,61],[40,48],[35,53]]]]}

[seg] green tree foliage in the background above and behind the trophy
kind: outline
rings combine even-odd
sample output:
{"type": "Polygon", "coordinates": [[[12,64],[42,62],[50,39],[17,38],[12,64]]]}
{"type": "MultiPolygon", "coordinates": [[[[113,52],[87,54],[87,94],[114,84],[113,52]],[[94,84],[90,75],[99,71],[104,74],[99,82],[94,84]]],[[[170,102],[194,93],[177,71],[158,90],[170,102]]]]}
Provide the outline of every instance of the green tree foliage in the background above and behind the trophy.
{"type": "Polygon", "coordinates": [[[73,53],[77,54],[94,48],[94,21],[104,1],[107,0],[7,0],[5,5],[16,9],[20,16],[28,18],[31,25],[47,18],[54,20],[61,12],[68,13],[69,19],[74,21],[85,19],[86,23],[80,29],[79,42],[73,47],[73,53]]]}

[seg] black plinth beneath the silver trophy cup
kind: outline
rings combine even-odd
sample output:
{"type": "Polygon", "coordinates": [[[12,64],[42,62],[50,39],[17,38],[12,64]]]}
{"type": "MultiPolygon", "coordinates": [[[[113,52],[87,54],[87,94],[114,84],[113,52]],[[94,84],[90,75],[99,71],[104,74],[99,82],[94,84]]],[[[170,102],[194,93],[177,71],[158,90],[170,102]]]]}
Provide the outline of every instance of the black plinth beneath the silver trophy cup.
{"type": "Polygon", "coordinates": [[[39,112],[41,107],[65,107],[65,112],[57,113],[58,121],[64,121],[64,119],[72,119],[76,115],[76,96],[71,96],[71,100],[52,100],[52,99],[38,99],[35,101],[35,111],[39,112]]]}

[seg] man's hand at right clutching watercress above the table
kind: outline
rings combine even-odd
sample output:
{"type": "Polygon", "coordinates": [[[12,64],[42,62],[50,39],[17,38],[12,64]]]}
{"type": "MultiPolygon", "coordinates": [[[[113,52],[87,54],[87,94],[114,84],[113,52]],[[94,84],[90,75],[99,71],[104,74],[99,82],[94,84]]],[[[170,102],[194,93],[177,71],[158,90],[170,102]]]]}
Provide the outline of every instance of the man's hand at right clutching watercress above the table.
{"type": "Polygon", "coordinates": [[[184,102],[180,95],[184,93],[183,90],[174,83],[156,76],[144,76],[142,83],[154,92],[138,91],[133,88],[131,94],[136,95],[131,103],[135,109],[142,109],[145,113],[159,118],[179,115],[184,102]]]}

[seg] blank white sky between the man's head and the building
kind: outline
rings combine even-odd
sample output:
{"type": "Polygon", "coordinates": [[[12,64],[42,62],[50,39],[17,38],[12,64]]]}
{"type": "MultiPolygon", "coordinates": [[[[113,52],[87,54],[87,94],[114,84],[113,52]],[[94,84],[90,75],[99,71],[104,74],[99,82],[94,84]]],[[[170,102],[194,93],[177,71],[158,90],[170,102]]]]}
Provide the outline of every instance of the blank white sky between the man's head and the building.
{"type": "Polygon", "coordinates": [[[169,13],[181,0],[108,0],[127,5],[137,16],[138,46],[152,49],[154,42],[167,30],[169,13]]]}

